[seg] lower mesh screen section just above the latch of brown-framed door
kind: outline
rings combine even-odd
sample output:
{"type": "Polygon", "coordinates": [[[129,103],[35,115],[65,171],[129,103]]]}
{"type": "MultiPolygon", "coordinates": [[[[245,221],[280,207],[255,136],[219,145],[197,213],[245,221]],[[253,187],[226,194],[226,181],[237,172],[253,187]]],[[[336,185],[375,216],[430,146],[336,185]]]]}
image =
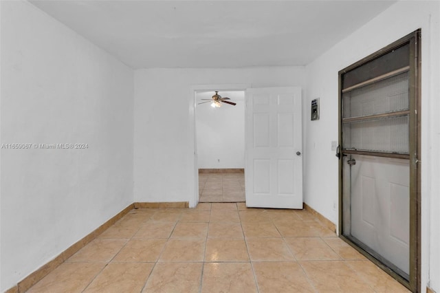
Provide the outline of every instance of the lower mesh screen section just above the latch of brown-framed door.
{"type": "Polygon", "coordinates": [[[408,116],[344,124],[344,149],[409,153],[408,116]]]}

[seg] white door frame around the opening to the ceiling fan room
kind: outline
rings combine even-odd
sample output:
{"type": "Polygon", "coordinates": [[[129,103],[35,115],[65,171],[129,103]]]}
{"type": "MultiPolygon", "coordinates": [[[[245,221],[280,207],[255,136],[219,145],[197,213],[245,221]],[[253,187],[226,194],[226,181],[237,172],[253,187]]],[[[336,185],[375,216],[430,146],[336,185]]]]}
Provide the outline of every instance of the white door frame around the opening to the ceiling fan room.
{"type": "MultiPolygon", "coordinates": [[[[197,127],[196,127],[196,111],[197,111],[197,100],[196,93],[197,91],[246,91],[246,89],[250,88],[251,85],[248,83],[230,83],[230,84],[208,84],[208,85],[192,85],[190,87],[190,99],[189,99],[189,109],[190,109],[190,136],[192,137],[192,149],[194,153],[194,160],[192,162],[194,177],[194,193],[192,198],[190,198],[189,206],[190,208],[195,208],[199,203],[199,162],[198,162],[198,153],[197,153],[197,127]]],[[[245,103],[245,113],[246,116],[246,99],[245,103]]],[[[245,127],[246,131],[246,127],[245,127]]],[[[245,150],[246,151],[246,150],[245,150]]],[[[246,172],[246,170],[245,170],[246,172]]]]}

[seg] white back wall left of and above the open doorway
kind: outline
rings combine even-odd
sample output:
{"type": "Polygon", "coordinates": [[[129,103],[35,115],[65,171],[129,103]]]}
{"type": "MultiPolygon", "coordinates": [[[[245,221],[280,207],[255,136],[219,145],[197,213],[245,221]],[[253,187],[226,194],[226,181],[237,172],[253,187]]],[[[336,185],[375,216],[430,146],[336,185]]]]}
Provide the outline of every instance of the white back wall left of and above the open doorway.
{"type": "Polygon", "coordinates": [[[195,196],[194,85],[305,86],[304,67],[135,71],[135,202],[195,196]]]}

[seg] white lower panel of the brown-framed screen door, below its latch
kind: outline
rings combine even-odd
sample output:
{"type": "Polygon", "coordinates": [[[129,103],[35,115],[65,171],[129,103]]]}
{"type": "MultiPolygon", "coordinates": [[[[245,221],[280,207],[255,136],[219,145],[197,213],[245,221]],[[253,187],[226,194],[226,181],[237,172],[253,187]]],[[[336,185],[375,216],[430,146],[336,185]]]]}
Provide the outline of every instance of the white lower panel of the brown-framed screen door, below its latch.
{"type": "Polygon", "coordinates": [[[351,159],[351,235],[409,274],[408,160],[351,159]]]}

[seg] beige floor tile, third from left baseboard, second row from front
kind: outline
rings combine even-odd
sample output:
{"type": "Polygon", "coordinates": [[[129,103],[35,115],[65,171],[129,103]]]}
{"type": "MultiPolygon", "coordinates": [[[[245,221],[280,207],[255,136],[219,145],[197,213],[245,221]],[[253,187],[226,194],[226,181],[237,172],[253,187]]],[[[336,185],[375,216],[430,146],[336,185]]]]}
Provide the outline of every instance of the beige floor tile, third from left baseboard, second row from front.
{"type": "Polygon", "coordinates": [[[170,238],[159,261],[203,261],[206,239],[170,238]]]}

